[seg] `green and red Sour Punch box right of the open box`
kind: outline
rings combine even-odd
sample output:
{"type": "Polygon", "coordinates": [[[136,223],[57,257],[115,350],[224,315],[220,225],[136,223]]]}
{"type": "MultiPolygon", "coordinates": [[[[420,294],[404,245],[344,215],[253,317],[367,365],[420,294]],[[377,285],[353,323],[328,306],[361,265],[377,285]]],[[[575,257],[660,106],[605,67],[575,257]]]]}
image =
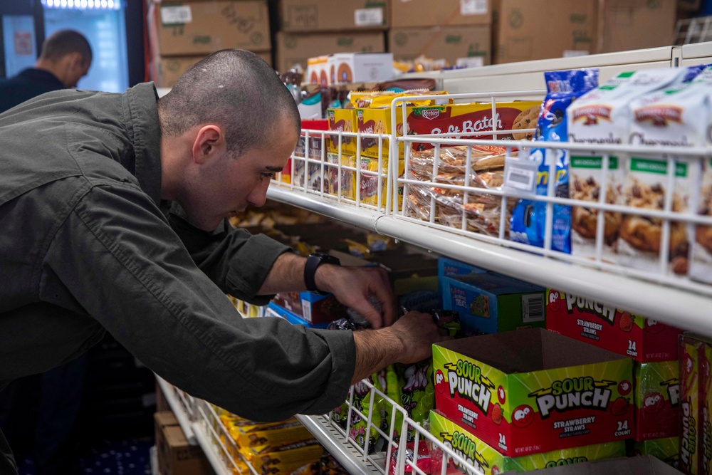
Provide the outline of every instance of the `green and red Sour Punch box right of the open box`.
{"type": "Polygon", "coordinates": [[[677,437],[680,418],[678,360],[633,365],[635,439],[677,437]]]}

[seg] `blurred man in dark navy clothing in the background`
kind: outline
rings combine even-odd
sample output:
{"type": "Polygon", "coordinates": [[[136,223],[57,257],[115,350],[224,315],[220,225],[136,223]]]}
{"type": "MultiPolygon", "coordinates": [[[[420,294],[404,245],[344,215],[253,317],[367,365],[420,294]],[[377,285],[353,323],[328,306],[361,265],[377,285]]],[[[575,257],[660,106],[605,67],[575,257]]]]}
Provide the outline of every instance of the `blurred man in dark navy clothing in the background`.
{"type": "MultiPolygon", "coordinates": [[[[92,50],[77,31],[46,38],[34,68],[0,79],[0,113],[54,90],[75,88],[89,71],[92,50]]],[[[0,429],[31,456],[36,474],[80,471],[76,434],[86,357],[20,378],[0,391],[0,429]]]]}

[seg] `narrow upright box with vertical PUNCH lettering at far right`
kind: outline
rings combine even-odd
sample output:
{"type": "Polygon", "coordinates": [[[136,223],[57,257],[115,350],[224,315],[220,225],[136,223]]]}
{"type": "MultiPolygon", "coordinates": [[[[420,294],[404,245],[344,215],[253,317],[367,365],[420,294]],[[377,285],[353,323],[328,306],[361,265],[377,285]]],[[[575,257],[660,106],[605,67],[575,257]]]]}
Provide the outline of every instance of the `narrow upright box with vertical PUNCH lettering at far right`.
{"type": "Polygon", "coordinates": [[[680,470],[700,473],[700,360],[705,344],[691,335],[680,337],[680,470]]]}

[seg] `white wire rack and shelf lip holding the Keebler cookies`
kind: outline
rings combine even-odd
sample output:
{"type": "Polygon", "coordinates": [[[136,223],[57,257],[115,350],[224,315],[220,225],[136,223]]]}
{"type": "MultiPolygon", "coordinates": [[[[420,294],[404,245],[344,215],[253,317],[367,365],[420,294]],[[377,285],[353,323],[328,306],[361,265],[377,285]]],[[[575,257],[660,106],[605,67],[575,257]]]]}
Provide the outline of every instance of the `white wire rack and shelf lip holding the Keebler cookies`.
{"type": "MultiPolygon", "coordinates": [[[[520,91],[515,93],[459,94],[451,96],[430,96],[431,98],[462,98],[492,103],[492,114],[496,114],[496,103],[503,98],[512,100],[518,95],[530,98],[537,91],[520,91]]],[[[543,97],[543,91],[538,91],[543,97]]],[[[424,96],[422,99],[428,99],[424,96]]],[[[396,122],[396,114],[402,113],[402,123],[407,124],[404,107],[398,107],[405,99],[394,100],[392,107],[392,123],[396,122]]],[[[396,130],[392,127],[391,130],[396,130]]],[[[364,229],[376,231],[379,234],[409,242],[438,254],[451,256],[487,268],[491,271],[530,281],[541,286],[556,288],[559,291],[574,293],[590,298],[600,303],[625,308],[629,311],[645,315],[649,318],[664,321],[679,328],[696,330],[706,335],[712,335],[712,319],[709,313],[712,304],[712,286],[695,281],[686,275],[676,275],[669,265],[669,243],[673,223],[682,223],[689,228],[689,234],[694,236],[695,226],[712,226],[712,218],[697,214],[693,206],[684,212],[673,209],[673,193],[667,193],[664,204],[658,209],[627,207],[622,204],[605,202],[604,193],[600,193],[597,201],[579,201],[576,199],[555,196],[555,187],[548,187],[547,196],[525,194],[516,189],[506,187],[483,188],[465,183],[446,184],[428,180],[414,179],[409,174],[412,166],[410,145],[414,142],[427,141],[434,148],[434,157],[439,157],[441,150],[448,145],[459,145],[467,149],[467,162],[464,169],[470,169],[471,155],[476,147],[500,147],[506,155],[507,167],[511,161],[518,160],[515,155],[525,157],[534,147],[555,151],[567,151],[582,157],[600,157],[602,167],[609,167],[611,157],[653,157],[666,165],[666,178],[663,184],[666,189],[675,189],[676,164],[684,162],[690,167],[701,167],[703,161],[712,157],[712,147],[676,147],[661,148],[640,145],[587,145],[570,144],[566,142],[528,142],[524,140],[476,140],[459,138],[464,134],[439,135],[407,135],[407,125],[404,126],[404,136],[384,134],[360,134],[357,132],[328,132],[305,130],[303,135],[309,140],[320,142],[318,146],[305,147],[305,154],[292,156],[292,179],[290,183],[281,182],[278,176],[273,186],[268,189],[268,197],[279,202],[293,204],[310,209],[313,212],[329,216],[333,219],[355,224],[364,229]],[[446,136],[448,135],[448,136],[446,136]],[[360,163],[360,147],[356,147],[355,164],[344,165],[342,160],[342,143],[345,137],[360,144],[364,138],[379,140],[384,144],[390,156],[397,154],[399,144],[404,143],[404,162],[399,170],[397,160],[387,160],[384,152],[379,152],[379,168],[375,171],[360,169],[355,164],[360,163]],[[331,145],[329,143],[331,140],[331,145]],[[335,153],[328,154],[328,147],[333,147],[335,153]],[[337,157],[337,158],[336,158],[337,157]],[[298,165],[300,164],[300,165],[298,165]],[[302,170],[303,175],[295,176],[294,172],[302,170]],[[314,179],[316,177],[316,179],[314,179]],[[347,179],[355,183],[354,194],[344,192],[343,182],[347,179]],[[371,177],[376,178],[378,199],[366,203],[359,196],[358,184],[371,177]],[[436,208],[439,204],[436,198],[431,199],[431,209],[426,213],[427,219],[414,216],[402,204],[403,197],[408,197],[411,189],[428,188],[450,189],[468,197],[486,195],[489,199],[499,202],[501,216],[498,226],[493,232],[483,234],[474,232],[468,226],[468,214],[463,209],[455,216],[456,227],[442,224],[436,220],[436,208]],[[399,199],[394,199],[399,197],[399,199]],[[506,213],[508,203],[511,205],[519,199],[530,199],[533,202],[545,204],[548,212],[545,219],[545,241],[543,247],[511,241],[508,239],[508,220],[506,213]],[[552,249],[552,229],[554,206],[578,206],[597,214],[595,237],[595,254],[583,258],[574,254],[565,254],[552,249]],[[642,216],[649,221],[659,222],[661,241],[659,245],[658,263],[653,270],[640,270],[634,266],[612,263],[602,256],[604,242],[604,216],[616,213],[629,216],[642,216]]],[[[496,130],[505,134],[506,130],[496,130]]],[[[492,135],[492,132],[486,132],[492,135]]],[[[472,134],[468,135],[469,137],[472,134]]],[[[433,160],[434,168],[431,177],[438,174],[437,160],[433,160]]],[[[505,172],[506,174],[506,169],[505,172]]],[[[555,163],[550,164],[550,176],[555,176],[555,163]]],[[[466,179],[468,179],[468,174],[466,179]]],[[[602,174],[607,179],[607,174],[602,174]]],[[[606,183],[600,184],[605,189],[606,183]]],[[[696,202],[698,189],[689,190],[691,202],[696,202]]],[[[693,237],[691,238],[693,241],[693,237]]],[[[691,243],[693,244],[693,243],[691,243]]]]}

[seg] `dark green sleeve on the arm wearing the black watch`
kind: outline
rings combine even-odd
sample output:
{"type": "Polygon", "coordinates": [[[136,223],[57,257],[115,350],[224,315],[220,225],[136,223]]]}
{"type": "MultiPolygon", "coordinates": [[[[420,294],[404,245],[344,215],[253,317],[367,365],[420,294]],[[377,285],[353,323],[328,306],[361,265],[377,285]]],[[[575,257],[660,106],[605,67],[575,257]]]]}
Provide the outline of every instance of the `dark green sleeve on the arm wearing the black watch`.
{"type": "Polygon", "coordinates": [[[171,204],[168,221],[193,261],[216,285],[231,296],[256,305],[266,305],[273,296],[258,296],[274,261],[290,251],[263,234],[253,236],[235,229],[224,219],[214,231],[189,224],[179,204],[171,204]]]}

